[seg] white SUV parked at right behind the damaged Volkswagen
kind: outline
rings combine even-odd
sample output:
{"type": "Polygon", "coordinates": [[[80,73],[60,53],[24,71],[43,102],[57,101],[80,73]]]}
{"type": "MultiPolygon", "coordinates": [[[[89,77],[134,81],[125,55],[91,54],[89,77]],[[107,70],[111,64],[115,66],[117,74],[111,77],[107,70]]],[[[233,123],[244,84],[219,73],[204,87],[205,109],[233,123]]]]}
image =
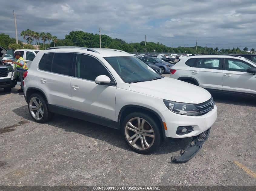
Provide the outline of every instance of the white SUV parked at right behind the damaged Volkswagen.
{"type": "Polygon", "coordinates": [[[186,56],[170,73],[170,78],[200,86],[211,93],[256,98],[256,64],[240,56],[186,56]]]}

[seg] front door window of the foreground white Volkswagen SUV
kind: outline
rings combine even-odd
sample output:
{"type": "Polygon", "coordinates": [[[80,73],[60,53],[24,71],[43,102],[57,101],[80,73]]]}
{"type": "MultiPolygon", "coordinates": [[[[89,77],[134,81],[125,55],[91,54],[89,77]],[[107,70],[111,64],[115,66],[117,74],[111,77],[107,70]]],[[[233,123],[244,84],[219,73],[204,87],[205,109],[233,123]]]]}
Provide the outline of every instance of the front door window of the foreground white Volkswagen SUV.
{"type": "Polygon", "coordinates": [[[76,77],[95,81],[99,75],[109,76],[107,69],[92,56],[77,54],[76,77]]]}

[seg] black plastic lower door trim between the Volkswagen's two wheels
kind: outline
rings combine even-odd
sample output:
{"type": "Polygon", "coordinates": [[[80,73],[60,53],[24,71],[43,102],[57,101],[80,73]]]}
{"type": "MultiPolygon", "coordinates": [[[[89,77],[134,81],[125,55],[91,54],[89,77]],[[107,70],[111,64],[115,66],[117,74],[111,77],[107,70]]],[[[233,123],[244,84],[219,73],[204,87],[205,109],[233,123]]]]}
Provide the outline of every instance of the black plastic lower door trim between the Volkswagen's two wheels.
{"type": "Polygon", "coordinates": [[[115,124],[116,124],[115,121],[113,121],[111,119],[107,119],[105,117],[97,116],[97,115],[94,115],[91,113],[87,113],[87,112],[80,111],[80,110],[75,110],[75,109],[60,106],[60,105],[49,104],[49,109],[53,113],[58,113],[61,115],[65,115],[65,116],[73,117],[76,119],[81,119],[81,120],[89,121],[91,123],[96,123],[99,125],[117,129],[117,128],[115,128],[115,124]]]}

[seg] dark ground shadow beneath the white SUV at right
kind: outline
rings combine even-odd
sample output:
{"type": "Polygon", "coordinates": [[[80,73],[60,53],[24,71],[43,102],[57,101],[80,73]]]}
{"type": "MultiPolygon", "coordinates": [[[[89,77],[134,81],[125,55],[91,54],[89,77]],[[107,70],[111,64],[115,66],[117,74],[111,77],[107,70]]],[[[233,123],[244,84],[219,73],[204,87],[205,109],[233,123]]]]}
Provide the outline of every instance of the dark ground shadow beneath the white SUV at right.
{"type": "Polygon", "coordinates": [[[231,97],[224,95],[212,94],[212,97],[217,103],[234,104],[241,106],[252,106],[256,107],[256,99],[249,99],[243,97],[231,97]]]}

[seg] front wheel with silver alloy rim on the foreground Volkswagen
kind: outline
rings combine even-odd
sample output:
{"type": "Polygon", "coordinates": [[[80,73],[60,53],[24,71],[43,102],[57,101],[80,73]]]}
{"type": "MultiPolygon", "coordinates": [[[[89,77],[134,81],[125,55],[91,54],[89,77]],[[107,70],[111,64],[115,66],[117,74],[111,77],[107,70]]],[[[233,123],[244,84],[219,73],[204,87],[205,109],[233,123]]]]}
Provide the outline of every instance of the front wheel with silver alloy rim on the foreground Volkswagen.
{"type": "Polygon", "coordinates": [[[161,143],[161,135],[155,116],[134,112],[125,117],[121,131],[126,144],[139,154],[154,152],[161,143]]]}

